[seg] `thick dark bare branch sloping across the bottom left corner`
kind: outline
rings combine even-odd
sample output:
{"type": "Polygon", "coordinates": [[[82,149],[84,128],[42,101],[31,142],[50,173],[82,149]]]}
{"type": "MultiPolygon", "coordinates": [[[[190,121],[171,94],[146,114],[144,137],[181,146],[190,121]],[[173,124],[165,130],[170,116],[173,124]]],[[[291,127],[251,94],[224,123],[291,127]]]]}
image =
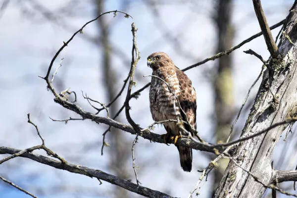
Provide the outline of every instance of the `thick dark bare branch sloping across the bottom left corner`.
{"type": "MultiPolygon", "coordinates": [[[[20,151],[21,150],[19,150],[19,149],[0,147],[0,154],[14,154],[14,153],[18,153],[20,151]]],[[[67,170],[72,173],[86,175],[89,177],[96,177],[98,179],[101,179],[101,180],[104,180],[111,184],[120,186],[124,189],[127,189],[128,191],[137,193],[139,195],[142,195],[142,196],[145,196],[148,198],[172,198],[171,196],[161,193],[159,191],[154,191],[154,190],[151,190],[146,187],[138,186],[137,184],[120,179],[114,175],[110,175],[103,171],[89,168],[86,166],[70,164],[70,163],[67,163],[67,164],[61,163],[60,161],[53,160],[49,157],[46,157],[46,156],[43,156],[43,155],[40,155],[37,153],[26,152],[26,153],[21,154],[20,156],[32,159],[34,161],[49,165],[49,166],[57,168],[57,169],[67,170]]]]}

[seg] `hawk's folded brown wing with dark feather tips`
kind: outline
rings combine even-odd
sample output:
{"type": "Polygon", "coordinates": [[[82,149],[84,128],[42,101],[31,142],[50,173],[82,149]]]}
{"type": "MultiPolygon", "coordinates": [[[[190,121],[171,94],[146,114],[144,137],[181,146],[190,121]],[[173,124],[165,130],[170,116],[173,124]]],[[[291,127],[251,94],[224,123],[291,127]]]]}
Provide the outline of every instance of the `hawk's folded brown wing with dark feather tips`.
{"type": "MultiPolygon", "coordinates": [[[[196,129],[196,109],[197,109],[196,91],[192,86],[192,81],[178,67],[176,67],[176,75],[179,80],[179,85],[181,90],[181,93],[178,99],[182,109],[186,113],[185,115],[183,112],[181,112],[182,118],[184,121],[186,121],[187,120],[186,116],[187,116],[189,123],[196,129]]],[[[191,127],[189,125],[185,124],[185,128],[187,131],[191,131],[191,127]]],[[[192,133],[192,135],[194,134],[192,133]]]]}

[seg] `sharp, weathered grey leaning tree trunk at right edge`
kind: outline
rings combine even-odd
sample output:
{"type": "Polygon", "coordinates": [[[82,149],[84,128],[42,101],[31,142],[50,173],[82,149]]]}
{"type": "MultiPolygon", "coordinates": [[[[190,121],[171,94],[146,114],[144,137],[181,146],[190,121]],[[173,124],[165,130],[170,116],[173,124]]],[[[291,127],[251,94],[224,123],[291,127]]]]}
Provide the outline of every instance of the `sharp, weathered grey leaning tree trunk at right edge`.
{"type": "MultiPolygon", "coordinates": [[[[291,10],[279,45],[281,57],[270,62],[247,118],[241,137],[256,133],[273,123],[284,121],[297,114],[297,10],[296,2],[291,10]],[[292,44],[293,42],[294,44],[292,44]]],[[[260,66],[260,65],[259,65],[260,66]]],[[[287,125],[271,129],[265,134],[239,144],[235,150],[237,166],[230,161],[216,190],[216,198],[261,198],[266,188],[255,181],[250,171],[265,185],[273,183],[275,171],[271,156],[287,125]],[[245,171],[245,170],[247,171],[245,171]]]]}

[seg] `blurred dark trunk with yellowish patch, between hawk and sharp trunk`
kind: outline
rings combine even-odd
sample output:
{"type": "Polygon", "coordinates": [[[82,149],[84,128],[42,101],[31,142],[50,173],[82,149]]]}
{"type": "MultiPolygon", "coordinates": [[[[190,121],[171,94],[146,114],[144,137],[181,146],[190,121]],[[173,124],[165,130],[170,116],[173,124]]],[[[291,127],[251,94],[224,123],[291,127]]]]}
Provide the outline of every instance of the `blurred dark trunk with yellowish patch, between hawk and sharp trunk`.
{"type": "MultiPolygon", "coordinates": [[[[234,29],[231,24],[232,0],[217,1],[215,22],[217,24],[217,53],[230,49],[233,44],[234,29]]],[[[232,54],[223,56],[217,62],[217,74],[213,82],[215,95],[216,139],[226,142],[230,133],[230,123],[234,115],[234,97],[232,80],[232,54]]],[[[214,173],[214,191],[220,183],[228,164],[221,159],[214,173]]]]}

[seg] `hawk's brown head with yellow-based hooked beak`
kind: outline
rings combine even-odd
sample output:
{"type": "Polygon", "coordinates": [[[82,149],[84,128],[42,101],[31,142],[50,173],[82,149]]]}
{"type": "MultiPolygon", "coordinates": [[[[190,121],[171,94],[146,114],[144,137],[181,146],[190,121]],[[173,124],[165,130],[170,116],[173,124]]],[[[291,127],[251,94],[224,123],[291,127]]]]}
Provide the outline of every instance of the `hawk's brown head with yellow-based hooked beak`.
{"type": "Polygon", "coordinates": [[[174,66],[170,57],[164,52],[154,52],[148,56],[148,67],[158,69],[159,67],[174,66]]]}

